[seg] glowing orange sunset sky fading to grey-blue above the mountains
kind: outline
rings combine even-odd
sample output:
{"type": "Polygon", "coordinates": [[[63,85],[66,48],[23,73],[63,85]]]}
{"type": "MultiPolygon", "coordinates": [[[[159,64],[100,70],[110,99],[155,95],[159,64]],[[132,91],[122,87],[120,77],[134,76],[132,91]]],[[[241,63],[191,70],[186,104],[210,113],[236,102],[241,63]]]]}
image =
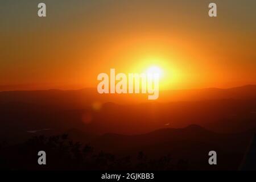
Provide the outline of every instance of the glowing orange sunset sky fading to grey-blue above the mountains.
{"type": "Polygon", "coordinates": [[[110,68],[151,66],[160,89],[256,84],[255,22],[254,0],[1,1],[0,90],[96,88],[110,68]]]}

